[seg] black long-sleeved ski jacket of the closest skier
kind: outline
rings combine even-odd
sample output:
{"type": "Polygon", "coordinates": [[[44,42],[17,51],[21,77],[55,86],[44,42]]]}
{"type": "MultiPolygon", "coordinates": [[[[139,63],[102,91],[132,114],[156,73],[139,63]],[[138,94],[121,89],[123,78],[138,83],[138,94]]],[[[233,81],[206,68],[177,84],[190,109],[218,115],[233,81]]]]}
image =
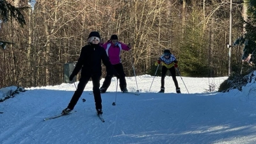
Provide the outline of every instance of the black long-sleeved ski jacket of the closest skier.
{"type": "Polygon", "coordinates": [[[81,49],[81,54],[72,75],[76,76],[82,68],[81,77],[92,76],[93,74],[101,76],[101,61],[106,66],[107,72],[113,74],[112,65],[105,49],[100,45],[85,45],[81,49]]]}

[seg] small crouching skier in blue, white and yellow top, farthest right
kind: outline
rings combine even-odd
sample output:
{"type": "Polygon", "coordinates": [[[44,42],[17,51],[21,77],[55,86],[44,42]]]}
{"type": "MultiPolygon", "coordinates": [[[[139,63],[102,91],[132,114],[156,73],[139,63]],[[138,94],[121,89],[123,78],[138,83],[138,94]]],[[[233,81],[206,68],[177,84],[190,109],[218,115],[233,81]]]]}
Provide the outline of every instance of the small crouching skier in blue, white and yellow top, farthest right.
{"type": "Polygon", "coordinates": [[[179,88],[178,81],[176,79],[176,71],[175,71],[175,68],[178,67],[177,63],[178,61],[176,60],[175,56],[173,56],[173,54],[168,49],[164,50],[164,54],[160,56],[160,58],[155,63],[156,66],[157,65],[163,66],[162,75],[161,75],[161,90],[159,91],[159,93],[164,93],[164,78],[166,76],[167,70],[170,70],[172,74],[172,80],[175,84],[176,92],[180,93],[180,88],[179,88]]]}

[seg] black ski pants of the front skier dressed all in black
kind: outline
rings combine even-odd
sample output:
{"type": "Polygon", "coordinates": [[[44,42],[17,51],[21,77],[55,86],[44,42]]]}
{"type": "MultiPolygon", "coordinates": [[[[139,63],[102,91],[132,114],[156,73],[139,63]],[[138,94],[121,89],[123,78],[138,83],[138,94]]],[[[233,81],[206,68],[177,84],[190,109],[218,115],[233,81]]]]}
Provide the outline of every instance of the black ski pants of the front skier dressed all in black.
{"type": "Polygon", "coordinates": [[[83,76],[79,79],[77,90],[74,93],[72,99],[70,100],[68,104],[68,108],[74,109],[77,101],[79,100],[79,98],[81,97],[84,91],[86,84],[90,80],[90,77],[92,77],[93,95],[94,95],[96,109],[102,109],[102,105],[101,105],[102,100],[100,95],[100,75],[83,76]]]}

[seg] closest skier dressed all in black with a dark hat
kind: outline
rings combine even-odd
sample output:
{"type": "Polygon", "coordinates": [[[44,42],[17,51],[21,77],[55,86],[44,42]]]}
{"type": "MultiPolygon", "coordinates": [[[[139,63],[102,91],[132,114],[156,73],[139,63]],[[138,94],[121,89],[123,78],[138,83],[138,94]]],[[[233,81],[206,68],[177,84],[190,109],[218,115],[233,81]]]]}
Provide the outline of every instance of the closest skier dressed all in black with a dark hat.
{"type": "Polygon", "coordinates": [[[68,107],[63,109],[63,114],[68,114],[74,109],[91,77],[96,110],[98,114],[102,114],[102,100],[99,89],[100,76],[102,75],[101,61],[106,65],[107,72],[113,74],[108,55],[105,49],[100,46],[100,34],[97,31],[92,31],[88,36],[88,45],[82,47],[76,67],[69,77],[69,81],[73,81],[79,70],[82,69],[77,90],[70,100],[68,107]]]}

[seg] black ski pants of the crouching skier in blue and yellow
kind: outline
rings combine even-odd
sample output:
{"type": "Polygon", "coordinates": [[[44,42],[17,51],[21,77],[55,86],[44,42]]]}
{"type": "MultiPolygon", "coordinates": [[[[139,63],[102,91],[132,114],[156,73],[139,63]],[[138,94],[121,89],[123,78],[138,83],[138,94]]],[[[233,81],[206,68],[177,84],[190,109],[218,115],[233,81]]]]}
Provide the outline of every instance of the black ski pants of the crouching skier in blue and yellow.
{"type": "Polygon", "coordinates": [[[161,75],[161,88],[164,88],[164,78],[166,76],[166,72],[167,70],[170,70],[171,74],[172,74],[172,80],[175,84],[176,88],[179,88],[179,84],[178,81],[176,79],[176,71],[175,71],[175,67],[171,67],[171,68],[167,68],[165,66],[162,67],[162,75],[161,75]]]}

